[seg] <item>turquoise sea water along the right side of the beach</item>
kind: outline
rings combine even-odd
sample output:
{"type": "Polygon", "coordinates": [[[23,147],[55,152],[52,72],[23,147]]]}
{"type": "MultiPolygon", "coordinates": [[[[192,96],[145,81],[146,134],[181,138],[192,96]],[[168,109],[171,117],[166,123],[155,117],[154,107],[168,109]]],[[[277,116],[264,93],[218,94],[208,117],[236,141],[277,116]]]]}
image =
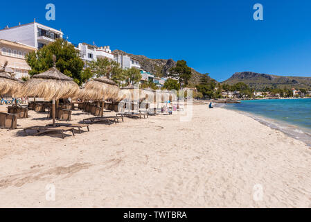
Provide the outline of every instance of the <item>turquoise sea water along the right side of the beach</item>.
{"type": "Polygon", "coordinates": [[[311,99],[241,101],[225,108],[249,114],[266,125],[311,144],[311,99]]]}

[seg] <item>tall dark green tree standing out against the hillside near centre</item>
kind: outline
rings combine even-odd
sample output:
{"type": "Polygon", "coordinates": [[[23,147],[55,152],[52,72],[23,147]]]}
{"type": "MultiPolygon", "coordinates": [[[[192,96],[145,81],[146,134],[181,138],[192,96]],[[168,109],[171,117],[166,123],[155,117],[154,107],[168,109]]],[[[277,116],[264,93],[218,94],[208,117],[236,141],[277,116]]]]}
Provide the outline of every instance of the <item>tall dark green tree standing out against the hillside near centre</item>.
{"type": "Polygon", "coordinates": [[[191,68],[187,66],[187,62],[185,60],[178,60],[176,67],[170,68],[170,76],[178,78],[179,83],[184,85],[188,84],[188,80],[191,78],[191,75],[191,68]]]}

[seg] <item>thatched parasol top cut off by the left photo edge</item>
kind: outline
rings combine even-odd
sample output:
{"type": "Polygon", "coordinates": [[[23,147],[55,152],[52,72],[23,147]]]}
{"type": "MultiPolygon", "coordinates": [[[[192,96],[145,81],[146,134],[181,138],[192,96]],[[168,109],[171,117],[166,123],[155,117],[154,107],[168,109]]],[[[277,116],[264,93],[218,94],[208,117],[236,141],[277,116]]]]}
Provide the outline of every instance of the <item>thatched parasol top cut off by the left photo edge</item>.
{"type": "Polygon", "coordinates": [[[8,65],[8,61],[0,69],[0,94],[19,96],[21,82],[8,73],[9,70],[6,68],[6,65],[8,65]]]}

